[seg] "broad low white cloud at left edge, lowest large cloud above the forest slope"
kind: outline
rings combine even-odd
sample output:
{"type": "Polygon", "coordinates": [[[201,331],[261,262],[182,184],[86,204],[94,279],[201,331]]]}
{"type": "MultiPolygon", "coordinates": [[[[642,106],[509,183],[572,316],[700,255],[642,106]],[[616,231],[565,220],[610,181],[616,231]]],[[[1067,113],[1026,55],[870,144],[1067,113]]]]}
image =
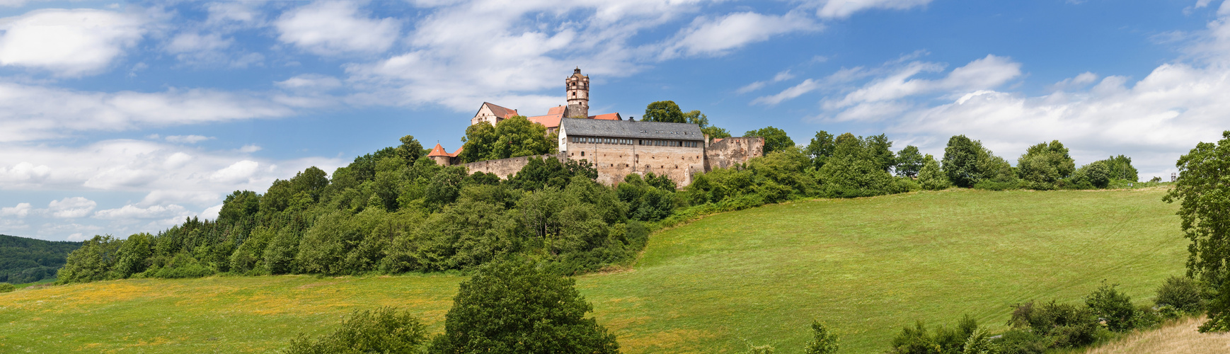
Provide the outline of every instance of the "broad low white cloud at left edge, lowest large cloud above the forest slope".
{"type": "Polygon", "coordinates": [[[339,159],[322,157],[260,160],[234,150],[209,151],[149,140],[103,140],[79,148],[0,143],[0,166],[21,161],[39,161],[47,172],[38,178],[6,179],[0,191],[149,193],[143,206],[215,203],[219,195],[236,189],[263,192],[273,179],[293,177],[309,166],[332,171],[344,165],[339,159]],[[261,168],[245,167],[252,165],[261,168]]]}

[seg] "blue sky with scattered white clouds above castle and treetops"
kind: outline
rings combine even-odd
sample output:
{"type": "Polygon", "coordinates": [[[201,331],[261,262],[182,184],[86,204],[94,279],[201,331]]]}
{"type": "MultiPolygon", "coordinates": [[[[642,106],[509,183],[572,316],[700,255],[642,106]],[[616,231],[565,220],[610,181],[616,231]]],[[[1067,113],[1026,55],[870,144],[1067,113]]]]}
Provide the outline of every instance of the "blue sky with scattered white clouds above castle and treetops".
{"type": "Polygon", "coordinates": [[[670,100],[737,135],[957,134],[1015,161],[1059,140],[1141,179],[1230,129],[1220,0],[0,0],[0,234],[80,241],[213,219],[416,136],[461,145],[492,102],[641,117],[670,100]]]}

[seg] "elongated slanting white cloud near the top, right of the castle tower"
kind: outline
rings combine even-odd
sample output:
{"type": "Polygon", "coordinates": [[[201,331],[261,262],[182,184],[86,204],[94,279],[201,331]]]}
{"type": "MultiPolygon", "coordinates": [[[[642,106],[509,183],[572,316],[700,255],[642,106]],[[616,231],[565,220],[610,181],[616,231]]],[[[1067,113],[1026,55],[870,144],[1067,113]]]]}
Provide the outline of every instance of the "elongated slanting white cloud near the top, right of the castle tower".
{"type": "Polygon", "coordinates": [[[662,57],[722,55],[743,45],[791,32],[814,32],[823,26],[798,12],[784,16],[736,12],[721,18],[697,17],[679,32],[662,57]]]}

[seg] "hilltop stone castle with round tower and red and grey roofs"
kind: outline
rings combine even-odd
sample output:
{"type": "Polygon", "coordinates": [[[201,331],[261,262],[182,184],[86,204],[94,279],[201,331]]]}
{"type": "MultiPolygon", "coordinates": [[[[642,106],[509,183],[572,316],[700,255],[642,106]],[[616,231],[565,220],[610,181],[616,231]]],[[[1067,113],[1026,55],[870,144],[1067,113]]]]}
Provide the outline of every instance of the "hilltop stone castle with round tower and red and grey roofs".
{"type": "MultiPolygon", "coordinates": [[[[764,152],[764,138],[744,136],[713,139],[690,123],[625,120],[619,113],[589,116],[589,76],[581,69],[565,79],[568,106],[547,109],[547,114],[528,117],[542,124],[547,134],[558,134],[558,154],[522,156],[465,163],[470,172],[494,173],[501,178],[517,173],[529,159],[584,160],[598,170],[598,181],[616,184],[627,175],[667,176],[679,187],[688,186],[692,176],[747,162],[764,152]]],[[[478,106],[470,124],[496,124],[520,116],[517,109],[490,102],[478,106]]],[[[458,165],[461,149],[449,154],[440,144],[427,155],[440,165],[458,165]]]]}

